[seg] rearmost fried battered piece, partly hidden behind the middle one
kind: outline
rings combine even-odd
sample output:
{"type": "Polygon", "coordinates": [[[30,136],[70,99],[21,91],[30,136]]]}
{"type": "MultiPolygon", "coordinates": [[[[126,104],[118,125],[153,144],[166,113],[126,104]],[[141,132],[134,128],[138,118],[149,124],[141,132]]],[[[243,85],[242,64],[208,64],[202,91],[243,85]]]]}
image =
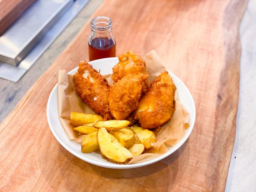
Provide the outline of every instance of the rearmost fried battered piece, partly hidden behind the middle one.
{"type": "Polygon", "coordinates": [[[113,67],[112,79],[114,82],[122,79],[128,74],[147,74],[145,62],[141,56],[136,55],[133,51],[128,51],[118,57],[119,63],[113,67]]]}

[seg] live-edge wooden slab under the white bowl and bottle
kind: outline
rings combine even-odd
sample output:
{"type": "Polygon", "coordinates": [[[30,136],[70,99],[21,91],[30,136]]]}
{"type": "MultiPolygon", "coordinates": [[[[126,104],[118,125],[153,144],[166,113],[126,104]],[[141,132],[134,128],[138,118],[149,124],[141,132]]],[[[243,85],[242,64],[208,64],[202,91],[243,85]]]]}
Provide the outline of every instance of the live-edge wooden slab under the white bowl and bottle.
{"type": "Polygon", "coordinates": [[[117,54],[155,49],[194,97],[190,138],[169,157],[130,170],[97,167],[66,151],[46,117],[59,69],[88,60],[89,22],[0,125],[0,191],[224,191],[236,133],[240,0],[107,0],[117,54]]]}

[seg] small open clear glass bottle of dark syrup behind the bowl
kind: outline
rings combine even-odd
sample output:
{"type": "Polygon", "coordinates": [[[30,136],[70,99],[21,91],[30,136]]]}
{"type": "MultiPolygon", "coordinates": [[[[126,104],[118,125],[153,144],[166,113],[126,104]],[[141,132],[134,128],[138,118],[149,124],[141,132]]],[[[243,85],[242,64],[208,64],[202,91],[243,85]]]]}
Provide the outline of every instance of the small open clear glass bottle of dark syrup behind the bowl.
{"type": "Polygon", "coordinates": [[[91,20],[88,45],[89,61],[116,56],[116,40],[112,34],[111,19],[99,16],[91,20]]]}

